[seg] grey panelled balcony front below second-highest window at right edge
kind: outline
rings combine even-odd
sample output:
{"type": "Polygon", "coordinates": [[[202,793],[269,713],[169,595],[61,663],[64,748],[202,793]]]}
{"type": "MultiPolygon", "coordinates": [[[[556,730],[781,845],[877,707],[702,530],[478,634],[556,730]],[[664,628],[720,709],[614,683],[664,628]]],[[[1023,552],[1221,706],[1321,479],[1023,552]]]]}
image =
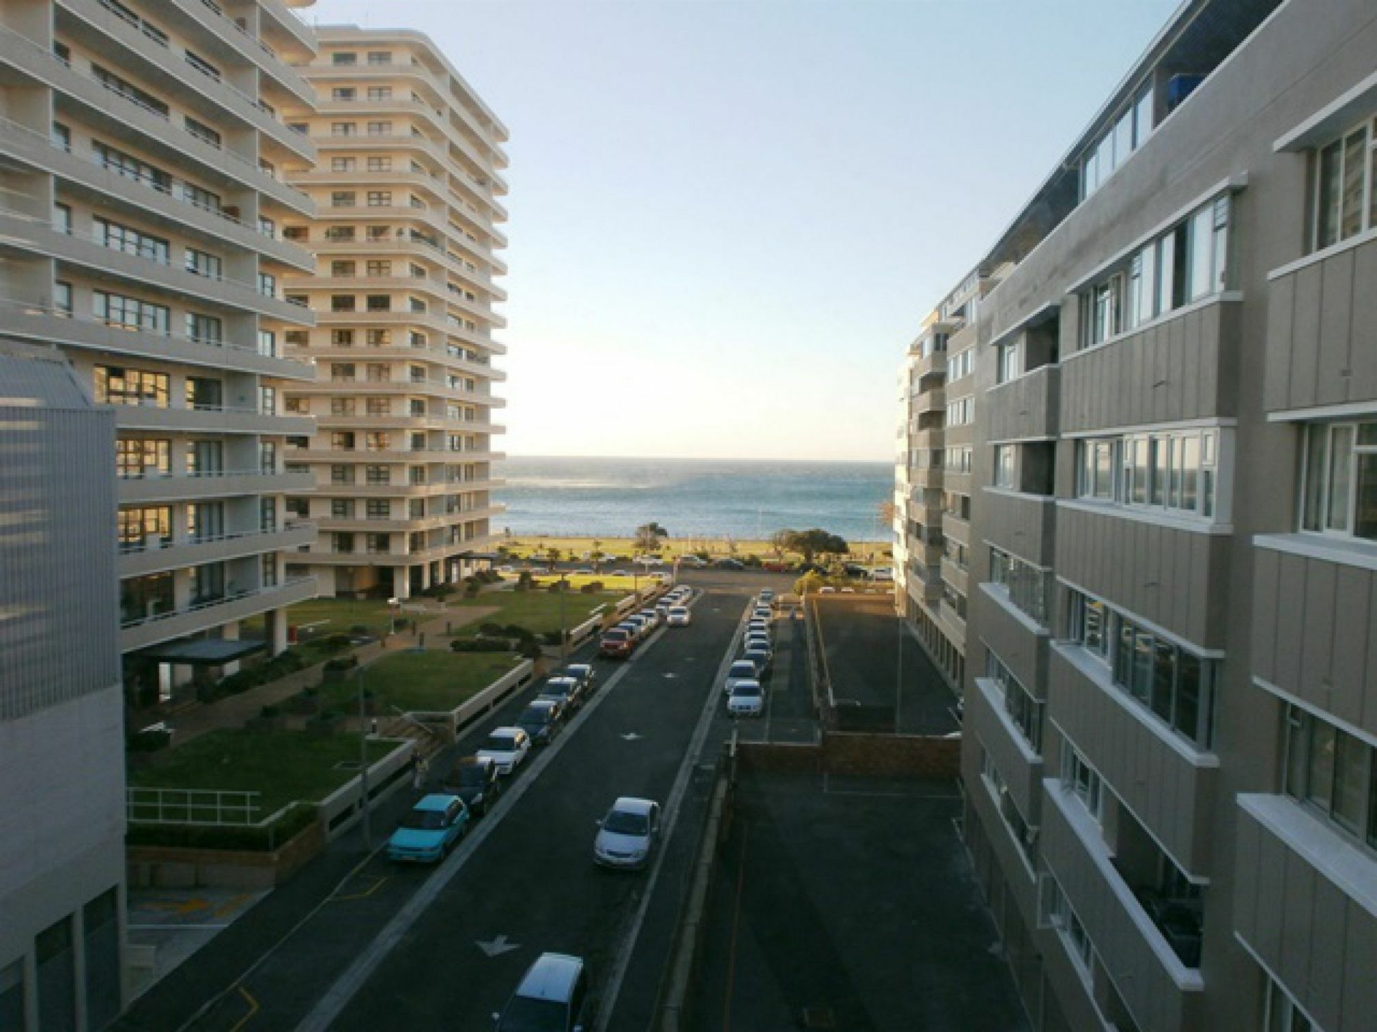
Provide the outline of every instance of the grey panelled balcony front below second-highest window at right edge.
{"type": "Polygon", "coordinates": [[[1316,534],[1253,538],[1253,674],[1356,727],[1371,727],[1377,548],[1316,534]],[[1366,710],[1366,711],[1365,711],[1366,710]]]}

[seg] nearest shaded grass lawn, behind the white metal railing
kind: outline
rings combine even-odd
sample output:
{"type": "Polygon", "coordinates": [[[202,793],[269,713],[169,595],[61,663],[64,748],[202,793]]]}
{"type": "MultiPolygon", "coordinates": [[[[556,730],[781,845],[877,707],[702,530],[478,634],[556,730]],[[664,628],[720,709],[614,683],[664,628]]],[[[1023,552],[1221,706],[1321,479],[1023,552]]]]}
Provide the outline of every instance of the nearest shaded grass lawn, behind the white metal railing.
{"type": "MultiPolygon", "coordinates": [[[[369,761],[397,749],[369,742],[369,761]]],[[[336,766],[358,760],[353,735],[308,738],[300,731],[212,731],[185,746],[164,750],[150,766],[129,771],[136,788],[226,788],[263,793],[257,819],[293,799],[319,801],[358,771],[336,766]]]]}

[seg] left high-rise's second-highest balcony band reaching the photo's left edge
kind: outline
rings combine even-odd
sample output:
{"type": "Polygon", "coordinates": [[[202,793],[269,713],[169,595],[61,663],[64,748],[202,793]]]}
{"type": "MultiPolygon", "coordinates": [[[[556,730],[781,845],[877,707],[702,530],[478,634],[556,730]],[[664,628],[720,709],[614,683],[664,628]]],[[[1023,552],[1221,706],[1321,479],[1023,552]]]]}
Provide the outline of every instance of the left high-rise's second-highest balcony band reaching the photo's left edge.
{"type": "MultiPolygon", "coordinates": [[[[196,3],[198,0],[193,0],[196,3]]],[[[0,118],[4,153],[61,180],[90,190],[102,201],[117,201],[175,233],[191,233],[207,241],[231,244],[255,250],[292,268],[313,271],[315,259],[296,244],[270,237],[257,226],[235,219],[223,209],[207,208],[185,200],[151,179],[134,179],[105,168],[88,154],[69,151],[50,136],[0,118]]]]}

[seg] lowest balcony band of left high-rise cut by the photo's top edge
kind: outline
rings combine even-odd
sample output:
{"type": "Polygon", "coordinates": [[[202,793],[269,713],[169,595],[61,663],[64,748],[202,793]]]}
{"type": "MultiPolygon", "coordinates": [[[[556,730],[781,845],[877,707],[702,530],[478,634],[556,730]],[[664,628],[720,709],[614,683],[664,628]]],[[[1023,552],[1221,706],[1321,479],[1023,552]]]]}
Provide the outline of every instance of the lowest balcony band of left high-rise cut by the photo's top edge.
{"type": "Polygon", "coordinates": [[[204,98],[242,127],[257,129],[302,161],[314,164],[315,147],[310,140],[264,111],[257,98],[182,59],[167,43],[149,36],[140,25],[131,23],[118,8],[101,0],[58,0],[58,28],[72,33],[74,40],[95,52],[109,54],[113,47],[121,47],[123,51],[114,58],[117,66],[136,67],[140,78],[157,92],[204,98]]]}

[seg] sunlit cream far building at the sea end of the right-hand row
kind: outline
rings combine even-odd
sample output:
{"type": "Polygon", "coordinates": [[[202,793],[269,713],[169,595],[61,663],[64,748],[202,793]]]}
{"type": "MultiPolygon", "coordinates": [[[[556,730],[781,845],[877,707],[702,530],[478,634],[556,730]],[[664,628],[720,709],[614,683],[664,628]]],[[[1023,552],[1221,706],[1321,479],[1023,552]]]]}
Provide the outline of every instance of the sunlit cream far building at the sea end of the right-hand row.
{"type": "Polygon", "coordinates": [[[971,567],[975,327],[997,281],[974,270],[923,321],[899,373],[895,604],[960,694],[971,567]]]}

